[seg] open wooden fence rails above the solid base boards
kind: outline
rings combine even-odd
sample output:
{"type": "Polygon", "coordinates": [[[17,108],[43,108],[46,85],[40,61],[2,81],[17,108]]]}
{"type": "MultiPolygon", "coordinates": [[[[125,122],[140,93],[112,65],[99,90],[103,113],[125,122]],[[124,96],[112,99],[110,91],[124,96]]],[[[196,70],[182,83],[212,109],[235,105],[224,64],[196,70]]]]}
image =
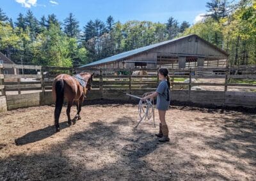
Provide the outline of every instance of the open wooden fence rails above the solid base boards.
{"type": "MultiPolygon", "coordinates": [[[[0,91],[2,95],[6,91],[47,91],[51,89],[54,77],[60,73],[73,75],[81,71],[95,72],[93,87],[99,89],[100,92],[104,89],[152,89],[156,88],[159,83],[157,76],[158,69],[99,69],[99,68],[60,68],[54,66],[28,66],[17,64],[0,64],[0,91]],[[4,69],[13,69],[13,74],[4,73],[4,69]],[[148,75],[132,75],[134,71],[145,70],[148,75]],[[125,75],[116,75],[123,73],[125,75]]],[[[195,67],[189,69],[170,68],[170,76],[172,87],[179,85],[186,87],[191,91],[193,86],[220,86],[224,87],[224,91],[228,87],[256,87],[256,66],[237,66],[231,68],[216,67],[203,68],[195,67]],[[187,82],[180,82],[180,79],[187,79],[187,82]],[[202,79],[205,82],[193,82],[192,79],[202,79]],[[207,82],[207,79],[213,79],[213,82],[207,82]],[[214,82],[216,79],[222,79],[223,83],[214,82]],[[230,80],[252,80],[251,82],[240,83],[230,82],[230,80]]]]}

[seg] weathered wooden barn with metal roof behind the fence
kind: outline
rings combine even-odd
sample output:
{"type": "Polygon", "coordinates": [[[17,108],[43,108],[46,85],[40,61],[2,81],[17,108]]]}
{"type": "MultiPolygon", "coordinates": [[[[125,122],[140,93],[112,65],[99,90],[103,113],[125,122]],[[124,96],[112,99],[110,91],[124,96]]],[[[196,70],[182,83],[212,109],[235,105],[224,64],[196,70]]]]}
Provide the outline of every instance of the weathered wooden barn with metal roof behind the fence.
{"type": "Polygon", "coordinates": [[[91,62],[81,68],[195,68],[225,67],[228,54],[196,34],[91,62]]]}

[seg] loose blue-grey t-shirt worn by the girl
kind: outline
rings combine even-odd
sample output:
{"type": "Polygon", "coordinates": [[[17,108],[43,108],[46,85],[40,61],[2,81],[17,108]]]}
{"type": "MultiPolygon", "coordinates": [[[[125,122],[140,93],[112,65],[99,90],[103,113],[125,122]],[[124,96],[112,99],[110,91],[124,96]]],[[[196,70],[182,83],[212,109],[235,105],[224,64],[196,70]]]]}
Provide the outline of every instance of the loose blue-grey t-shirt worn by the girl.
{"type": "Polygon", "coordinates": [[[170,90],[168,88],[168,83],[166,80],[163,80],[159,83],[156,92],[157,101],[156,101],[156,108],[158,110],[168,110],[170,105],[170,90]]]}

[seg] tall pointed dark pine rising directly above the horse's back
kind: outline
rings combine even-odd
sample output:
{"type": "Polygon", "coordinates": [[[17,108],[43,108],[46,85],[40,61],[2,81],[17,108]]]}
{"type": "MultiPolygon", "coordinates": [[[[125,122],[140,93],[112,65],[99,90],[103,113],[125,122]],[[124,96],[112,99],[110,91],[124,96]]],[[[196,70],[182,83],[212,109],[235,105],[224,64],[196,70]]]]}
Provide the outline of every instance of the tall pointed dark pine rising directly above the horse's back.
{"type": "Polygon", "coordinates": [[[76,38],[79,36],[79,22],[72,13],[64,20],[64,32],[68,37],[76,38]]]}

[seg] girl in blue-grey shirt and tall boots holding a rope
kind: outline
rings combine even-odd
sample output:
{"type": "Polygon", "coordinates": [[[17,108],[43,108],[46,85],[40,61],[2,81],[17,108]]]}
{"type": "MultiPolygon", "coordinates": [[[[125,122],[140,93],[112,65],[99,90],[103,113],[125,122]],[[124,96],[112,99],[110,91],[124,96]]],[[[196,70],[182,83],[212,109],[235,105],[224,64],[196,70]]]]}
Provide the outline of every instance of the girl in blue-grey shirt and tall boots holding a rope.
{"type": "Polygon", "coordinates": [[[156,92],[153,92],[152,94],[146,96],[142,99],[150,99],[157,96],[157,103],[156,108],[159,112],[159,133],[156,134],[157,137],[159,137],[159,141],[165,142],[169,141],[170,138],[168,137],[168,126],[165,121],[165,113],[166,110],[168,110],[170,105],[170,77],[168,76],[168,69],[161,68],[158,71],[158,76],[161,82],[159,83],[156,92]]]}

